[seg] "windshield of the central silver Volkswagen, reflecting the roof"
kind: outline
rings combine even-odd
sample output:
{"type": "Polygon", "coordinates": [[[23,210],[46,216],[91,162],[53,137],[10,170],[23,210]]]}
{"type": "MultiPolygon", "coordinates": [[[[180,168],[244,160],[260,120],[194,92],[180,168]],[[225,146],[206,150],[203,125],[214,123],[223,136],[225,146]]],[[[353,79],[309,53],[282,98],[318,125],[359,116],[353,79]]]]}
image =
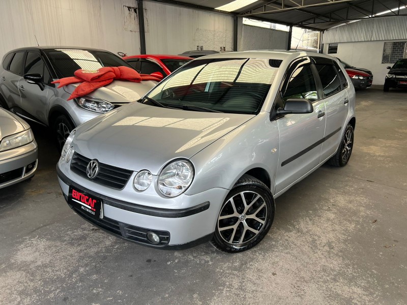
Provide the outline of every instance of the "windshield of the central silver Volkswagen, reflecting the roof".
{"type": "Polygon", "coordinates": [[[257,114],[280,64],[281,60],[267,58],[195,59],[140,102],[193,111],[257,114]]]}

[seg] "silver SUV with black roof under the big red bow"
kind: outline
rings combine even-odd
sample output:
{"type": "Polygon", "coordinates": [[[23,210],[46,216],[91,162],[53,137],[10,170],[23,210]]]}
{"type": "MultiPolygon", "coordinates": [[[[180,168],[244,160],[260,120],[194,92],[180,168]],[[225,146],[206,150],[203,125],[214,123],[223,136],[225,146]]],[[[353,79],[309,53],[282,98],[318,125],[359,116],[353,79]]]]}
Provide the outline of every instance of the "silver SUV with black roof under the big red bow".
{"type": "Polygon", "coordinates": [[[0,106],[44,126],[55,134],[62,149],[69,133],[80,124],[140,99],[157,82],[114,80],[90,96],[67,101],[78,86],[57,88],[52,81],[74,76],[78,69],[125,66],[108,51],[78,47],[26,47],[7,53],[0,65],[0,106]]]}

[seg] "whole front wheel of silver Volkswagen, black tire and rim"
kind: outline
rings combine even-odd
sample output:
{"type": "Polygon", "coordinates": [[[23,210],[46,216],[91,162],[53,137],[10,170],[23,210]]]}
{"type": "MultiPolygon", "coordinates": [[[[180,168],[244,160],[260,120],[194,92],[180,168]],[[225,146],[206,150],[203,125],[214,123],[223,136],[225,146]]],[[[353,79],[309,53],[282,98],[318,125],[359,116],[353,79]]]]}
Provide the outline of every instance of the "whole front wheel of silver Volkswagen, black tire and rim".
{"type": "Polygon", "coordinates": [[[215,234],[211,240],[212,245],[220,251],[229,253],[242,252],[254,247],[270,230],[275,209],[270,189],[260,180],[243,175],[222,204],[215,234]],[[226,227],[235,228],[224,229],[226,227]]]}

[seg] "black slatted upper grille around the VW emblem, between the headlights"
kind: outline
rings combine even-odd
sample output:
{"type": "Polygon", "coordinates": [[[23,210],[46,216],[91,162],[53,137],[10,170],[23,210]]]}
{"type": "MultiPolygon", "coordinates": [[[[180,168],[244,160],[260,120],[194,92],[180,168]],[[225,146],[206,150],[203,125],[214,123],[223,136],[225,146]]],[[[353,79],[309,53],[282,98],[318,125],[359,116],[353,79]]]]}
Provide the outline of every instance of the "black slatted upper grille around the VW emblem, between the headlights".
{"type": "Polygon", "coordinates": [[[97,176],[90,179],[86,174],[86,167],[91,160],[92,159],[86,158],[78,153],[74,153],[71,161],[71,170],[79,176],[92,180],[102,186],[116,190],[123,190],[133,173],[128,169],[99,163],[99,172],[97,176]]]}

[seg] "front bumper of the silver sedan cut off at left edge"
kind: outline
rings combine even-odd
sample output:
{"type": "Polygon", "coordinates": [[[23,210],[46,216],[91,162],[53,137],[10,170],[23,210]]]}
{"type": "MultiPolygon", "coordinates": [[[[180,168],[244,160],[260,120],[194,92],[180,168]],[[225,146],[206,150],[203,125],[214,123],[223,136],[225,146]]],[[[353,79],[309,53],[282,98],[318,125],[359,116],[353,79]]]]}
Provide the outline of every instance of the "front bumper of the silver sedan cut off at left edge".
{"type": "Polygon", "coordinates": [[[38,165],[38,147],[30,144],[0,153],[0,189],[34,176],[38,165]]]}

